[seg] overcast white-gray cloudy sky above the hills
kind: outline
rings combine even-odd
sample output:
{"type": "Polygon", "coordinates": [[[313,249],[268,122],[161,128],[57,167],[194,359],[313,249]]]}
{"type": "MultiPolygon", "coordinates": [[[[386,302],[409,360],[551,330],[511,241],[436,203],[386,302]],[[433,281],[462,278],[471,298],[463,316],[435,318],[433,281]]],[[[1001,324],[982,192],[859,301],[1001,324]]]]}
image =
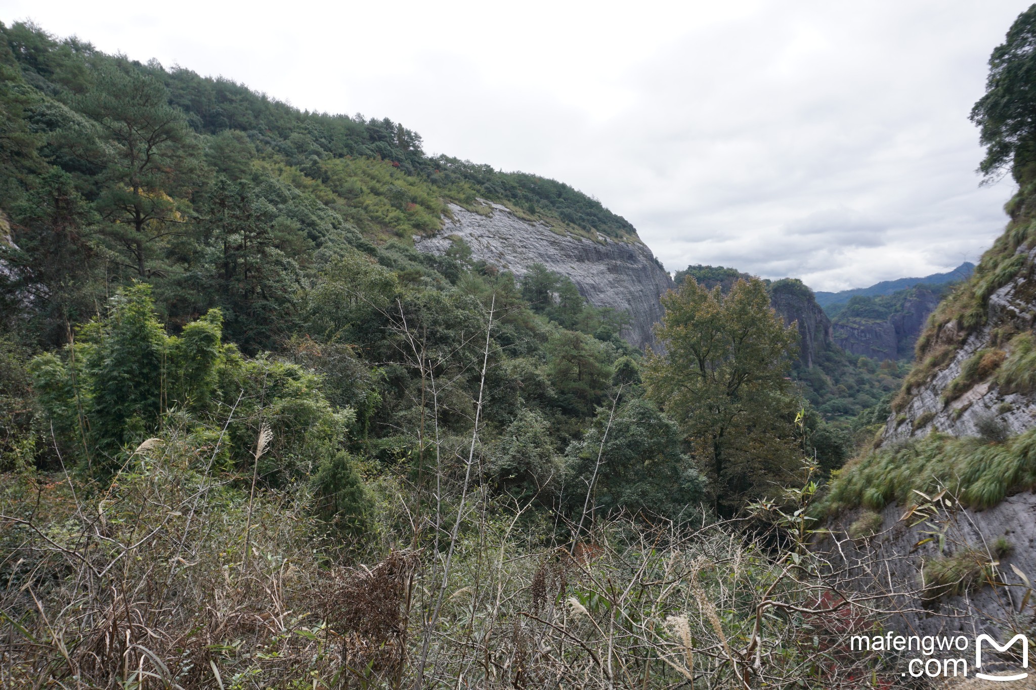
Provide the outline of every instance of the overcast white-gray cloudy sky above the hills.
{"type": "Polygon", "coordinates": [[[975,261],[1002,231],[1013,188],[978,186],[968,113],[1027,6],[0,0],[0,21],[566,181],[670,270],[839,290],[975,261]]]}

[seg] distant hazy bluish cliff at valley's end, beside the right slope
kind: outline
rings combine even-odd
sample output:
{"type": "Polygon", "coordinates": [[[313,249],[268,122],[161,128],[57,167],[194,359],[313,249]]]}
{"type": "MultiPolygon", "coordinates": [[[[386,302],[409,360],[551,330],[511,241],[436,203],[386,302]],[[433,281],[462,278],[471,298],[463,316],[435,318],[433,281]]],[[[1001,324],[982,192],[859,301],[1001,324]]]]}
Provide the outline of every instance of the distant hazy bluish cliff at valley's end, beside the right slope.
{"type": "Polygon", "coordinates": [[[853,297],[832,319],[834,341],[845,352],[879,361],[905,359],[942,291],[919,287],[889,296],[853,297]]]}

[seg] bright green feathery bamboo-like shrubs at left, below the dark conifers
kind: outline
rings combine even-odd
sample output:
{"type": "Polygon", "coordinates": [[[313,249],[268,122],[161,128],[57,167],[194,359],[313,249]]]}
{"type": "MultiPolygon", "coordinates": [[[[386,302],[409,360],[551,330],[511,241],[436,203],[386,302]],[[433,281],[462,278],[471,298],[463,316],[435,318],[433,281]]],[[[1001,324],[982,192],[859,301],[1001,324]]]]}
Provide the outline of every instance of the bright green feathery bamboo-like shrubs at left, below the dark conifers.
{"type": "Polygon", "coordinates": [[[311,371],[223,344],[217,309],[169,336],[148,286],[120,291],[110,307],[63,357],[47,353],[30,367],[61,452],[100,475],[117,471],[178,415],[196,427],[223,428],[219,459],[249,474],[256,434],[268,425],[272,444],[256,470],[283,485],[334,454],[354,419],[351,409],[328,403],[311,371]]]}

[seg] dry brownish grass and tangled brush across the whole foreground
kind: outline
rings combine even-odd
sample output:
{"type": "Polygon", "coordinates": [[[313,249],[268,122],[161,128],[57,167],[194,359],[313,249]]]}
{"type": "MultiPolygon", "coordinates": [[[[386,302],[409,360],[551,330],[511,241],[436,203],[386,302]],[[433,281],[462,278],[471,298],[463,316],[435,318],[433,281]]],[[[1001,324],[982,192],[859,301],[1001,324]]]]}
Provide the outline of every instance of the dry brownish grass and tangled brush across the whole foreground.
{"type": "MultiPolygon", "coordinates": [[[[305,492],[250,501],[251,477],[210,475],[197,441],[164,436],[110,488],[4,477],[0,686],[850,688],[872,670],[838,650],[873,599],[833,597],[821,561],[793,565],[730,526],[623,519],[574,558],[481,486],[433,618],[434,531],[347,567],[305,492]]],[[[382,484],[379,520],[405,523],[413,497],[382,484]]]]}

